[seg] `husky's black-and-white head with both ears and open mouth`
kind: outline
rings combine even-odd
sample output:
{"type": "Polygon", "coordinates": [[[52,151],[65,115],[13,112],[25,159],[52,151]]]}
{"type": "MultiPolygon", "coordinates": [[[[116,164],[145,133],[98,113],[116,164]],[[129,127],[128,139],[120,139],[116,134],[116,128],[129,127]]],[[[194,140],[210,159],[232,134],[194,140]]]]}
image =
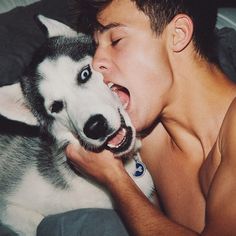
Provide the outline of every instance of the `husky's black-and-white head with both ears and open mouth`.
{"type": "Polygon", "coordinates": [[[20,85],[0,88],[0,114],[39,125],[60,146],[74,143],[91,151],[109,149],[115,155],[132,151],[136,138],[131,121],[91,66],[92,39],[58,21],[44,16],[39,20],[47,28],[48,40],[20,85]]]}

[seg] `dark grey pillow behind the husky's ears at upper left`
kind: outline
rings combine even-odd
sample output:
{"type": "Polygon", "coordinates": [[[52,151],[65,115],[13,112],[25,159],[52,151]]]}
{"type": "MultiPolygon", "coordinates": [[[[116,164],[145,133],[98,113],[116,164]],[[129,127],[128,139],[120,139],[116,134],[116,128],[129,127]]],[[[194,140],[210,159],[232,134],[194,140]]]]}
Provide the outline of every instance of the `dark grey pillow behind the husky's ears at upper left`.
{"type": "Polygon", "coordinates": [[[42,0],[0,14],[0,86],[19,80],[46,39],[34,19],[37,14],[68,24],[67,0],[42,0]]]}

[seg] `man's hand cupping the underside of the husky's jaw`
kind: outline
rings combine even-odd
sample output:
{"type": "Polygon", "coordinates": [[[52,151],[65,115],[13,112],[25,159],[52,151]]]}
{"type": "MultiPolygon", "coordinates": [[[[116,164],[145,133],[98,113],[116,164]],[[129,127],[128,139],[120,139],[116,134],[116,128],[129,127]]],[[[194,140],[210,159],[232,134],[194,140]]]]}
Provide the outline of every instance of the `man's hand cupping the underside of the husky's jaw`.
{"type": "Polygon", "coordinates": [[[127,175],[122,159],[114,157],[107,150],[94,153],[69,144],[66,148],[66,156],[76,169],[104,185],[112,184],[120,176],[127,175]]]}

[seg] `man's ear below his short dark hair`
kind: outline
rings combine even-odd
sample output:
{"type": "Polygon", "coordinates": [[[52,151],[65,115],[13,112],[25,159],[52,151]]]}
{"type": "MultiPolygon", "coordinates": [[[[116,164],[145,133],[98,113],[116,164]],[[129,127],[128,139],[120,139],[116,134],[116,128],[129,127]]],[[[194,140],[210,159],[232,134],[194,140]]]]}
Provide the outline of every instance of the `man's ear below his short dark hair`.
{"type": "Polygon", "coordinates": [[[178,14],[171,21],[172,49],[180,52],[191,42],[193,36],[193,22],[188,15],[178,14]]]}

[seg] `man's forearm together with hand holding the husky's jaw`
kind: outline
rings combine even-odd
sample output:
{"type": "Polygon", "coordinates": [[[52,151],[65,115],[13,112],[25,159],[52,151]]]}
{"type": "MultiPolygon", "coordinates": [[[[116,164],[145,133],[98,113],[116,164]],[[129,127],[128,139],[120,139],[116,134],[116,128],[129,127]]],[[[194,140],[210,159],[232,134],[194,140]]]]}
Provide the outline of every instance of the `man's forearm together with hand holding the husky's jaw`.
{"type": "Polygon", "coordinates": [[[115,159],[109,151],[95,154],[80,150],[78,154],[73,146],[68,146],[67,155],[81,171],[109,189],[131,235],[198,235],[169,220],[157,209],[130,178],[122,161],[115,159]]]}

